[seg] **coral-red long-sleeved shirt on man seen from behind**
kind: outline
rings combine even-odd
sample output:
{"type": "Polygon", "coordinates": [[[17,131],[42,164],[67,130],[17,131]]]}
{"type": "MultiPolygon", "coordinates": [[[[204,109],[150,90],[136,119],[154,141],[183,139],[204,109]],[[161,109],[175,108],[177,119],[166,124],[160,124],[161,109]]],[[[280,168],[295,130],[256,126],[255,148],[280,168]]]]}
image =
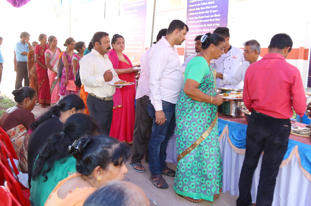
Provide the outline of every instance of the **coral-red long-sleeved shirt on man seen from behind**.
{"type": "Polygon", "coordinates": [[[307,107],[299,70],[276,53],[266,54],[247,68],[243,101],[249,111],[279,119],[291,118],[292,107],[303,116],[307,107]]]}

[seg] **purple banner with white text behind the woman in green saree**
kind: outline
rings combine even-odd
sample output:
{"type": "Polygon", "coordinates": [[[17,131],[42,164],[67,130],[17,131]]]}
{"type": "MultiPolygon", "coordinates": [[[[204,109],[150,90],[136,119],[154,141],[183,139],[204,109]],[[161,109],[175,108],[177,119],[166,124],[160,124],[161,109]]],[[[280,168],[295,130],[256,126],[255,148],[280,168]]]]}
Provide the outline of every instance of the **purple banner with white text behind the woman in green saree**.
{"type": "Polygon", "coordinates": [[[226,27],[228,22],[228,0],[187,0],[185,60],[196,54],[194,39],[197,35],[213,33],[217,27],[226,27]]]}

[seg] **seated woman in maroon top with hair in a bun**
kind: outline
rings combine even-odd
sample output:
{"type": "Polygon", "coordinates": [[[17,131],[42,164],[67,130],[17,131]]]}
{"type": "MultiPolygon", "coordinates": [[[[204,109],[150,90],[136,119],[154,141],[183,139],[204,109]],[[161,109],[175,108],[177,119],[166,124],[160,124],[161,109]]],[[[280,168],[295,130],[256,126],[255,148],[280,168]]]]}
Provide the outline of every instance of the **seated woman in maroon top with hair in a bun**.
{"type": "Polygon", "coordinates": [[[35,107],[37,94],[31,87],[21,87],[12,92],[17,105],[7,109],[0,119],[0,127],[11,139],[17,157],[30,124],[35,121],[31,112],[35,107]]]}

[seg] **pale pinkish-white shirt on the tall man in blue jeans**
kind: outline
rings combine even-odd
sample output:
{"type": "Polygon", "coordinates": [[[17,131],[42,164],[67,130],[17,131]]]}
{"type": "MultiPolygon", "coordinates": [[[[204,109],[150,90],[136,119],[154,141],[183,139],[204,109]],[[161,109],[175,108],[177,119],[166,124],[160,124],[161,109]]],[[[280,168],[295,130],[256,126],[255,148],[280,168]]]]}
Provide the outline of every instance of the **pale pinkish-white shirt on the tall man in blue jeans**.
{"type": "Polygon", "coordinates": [[[177,49],[162,36],[149,54],[150,99],[155,111],[162,111],[162,100],[177,103],[184,83],[177,49]]]}

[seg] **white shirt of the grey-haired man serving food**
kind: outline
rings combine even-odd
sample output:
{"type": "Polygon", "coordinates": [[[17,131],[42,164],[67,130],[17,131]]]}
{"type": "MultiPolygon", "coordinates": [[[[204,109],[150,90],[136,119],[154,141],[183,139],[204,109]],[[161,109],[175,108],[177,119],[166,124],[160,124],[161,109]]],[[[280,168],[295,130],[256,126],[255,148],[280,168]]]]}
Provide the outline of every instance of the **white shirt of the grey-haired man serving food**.
{"type": "MultiPolygon", "coordinates": [[[[256,60],[259,61],[261,60],[262,57],[258,56],[258,59],[256,60]]],[[[251,65],[250,62],[248,61],[245,61],[243,62],[237,72],[234,74],[234,75],[227,75],[227,74],[223,74],[224,78],[220,80],[220,84],[231,84],[233,86],[236,86],[236,85],[241,85],[240,83],[242,82],[242,80],[244,80],[244,77],[245,77],[245,73],[246,73],[246,70],[248,68],[248,66],[251,65]]],[[[244,83],[243,83],[244,84],[244,83]]],[[[242,87],[239,87],[238,89],[243,89],[243,85],[242,87]]]]}

